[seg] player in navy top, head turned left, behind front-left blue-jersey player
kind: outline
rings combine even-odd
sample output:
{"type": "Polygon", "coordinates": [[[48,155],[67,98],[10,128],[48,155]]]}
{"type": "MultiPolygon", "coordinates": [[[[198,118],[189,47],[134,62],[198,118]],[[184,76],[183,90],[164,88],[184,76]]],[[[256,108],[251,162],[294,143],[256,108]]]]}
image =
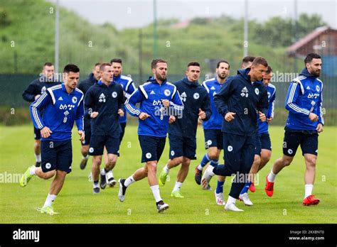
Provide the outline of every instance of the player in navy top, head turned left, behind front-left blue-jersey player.
{"type": "Polygon", "coordinates": [[[116,180],[112,169],[119,156],[120,126],[118,118],[124,116],[124,94],[120,84],[113,82],[113,70],[109,63],[100,65],[100,80],[90,87],[85,95],[85,115],[91,120],[89,155],[92,155],[92,182],[94,194],[107,184],[114,187],[116,180]],[[100,171],[104,148],[107,148],[107,163],[100,171]],[[98,186],[100,175],[100,187],[98,186]]]}

